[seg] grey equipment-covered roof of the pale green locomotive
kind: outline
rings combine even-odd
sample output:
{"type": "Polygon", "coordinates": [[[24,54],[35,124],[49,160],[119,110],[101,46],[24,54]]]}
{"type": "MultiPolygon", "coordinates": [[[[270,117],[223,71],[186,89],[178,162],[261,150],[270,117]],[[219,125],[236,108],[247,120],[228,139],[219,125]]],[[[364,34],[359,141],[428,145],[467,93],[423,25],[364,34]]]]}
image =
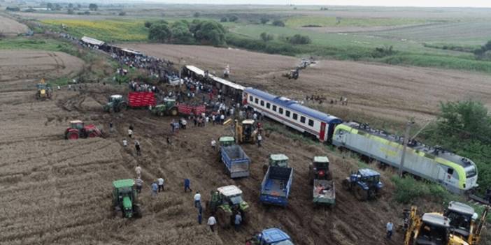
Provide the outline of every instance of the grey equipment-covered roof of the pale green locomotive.
{"type": "MultiPolygon", "coordinates": [[[[356,121],[349,121],[349,122],[345,122],[343,124],[346,126],[349,126],[351,128],[355,128],[358,131],[363,131],[365,133],[369,133],[371,135],[376,135],[380,138],[384,138],[385,140],[390,140],[392,142],[404,144],[404,137],[399,136],[399,135],[390,134],[390,133],[387,133],[383,130],[378,130],[376,128],[370,128],[368,126],[368,124],[360,124],[356,121]]],[[[408,142],[408,147],[411,149],[414,149],[416,151],[422,151],[425,154],[429,154],[431,156],[438,156],[439,158],[443,158],[447,161],[457,163],[464,168],[469,167],[471,165],[474,165],[474,163],[468,158],[465,158],[463,156],[459,156],[453,152],[442,149],[441,147],[430,147],[430,146],[428,146],[426,144],[422,144],[422,142],[418,142],[416,140],[411,140],[411,142],[408,142]]]]}

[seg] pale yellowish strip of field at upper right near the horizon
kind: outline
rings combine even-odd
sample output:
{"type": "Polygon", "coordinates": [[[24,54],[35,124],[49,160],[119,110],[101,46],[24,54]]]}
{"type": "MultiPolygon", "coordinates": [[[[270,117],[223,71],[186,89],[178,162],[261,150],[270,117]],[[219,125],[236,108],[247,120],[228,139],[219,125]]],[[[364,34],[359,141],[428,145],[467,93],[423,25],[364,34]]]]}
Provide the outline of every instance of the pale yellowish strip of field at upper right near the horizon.
{"type": "Polygon", "coordinates": [[[287,27],[304,27],[307,25],[317,25],[320,27],[391,27],[408,24],[425,24],[424,19],[408,18],[344,18],[336,23],[336,17],[322,16],[301,16],[292,17],[286,20],[287,27]]]}

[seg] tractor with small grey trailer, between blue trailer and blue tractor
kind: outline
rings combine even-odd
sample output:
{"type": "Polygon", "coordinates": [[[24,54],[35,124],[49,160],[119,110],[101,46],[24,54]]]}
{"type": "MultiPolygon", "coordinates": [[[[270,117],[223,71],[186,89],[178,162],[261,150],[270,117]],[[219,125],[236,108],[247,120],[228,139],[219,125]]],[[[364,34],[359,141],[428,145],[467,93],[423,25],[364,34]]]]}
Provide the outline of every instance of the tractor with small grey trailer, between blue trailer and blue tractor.
{"type": "Polygon", "coordinates": [[[308,165],[308,176],[313,184],[313,203],[319,205],[334,205],[336,189],[329,171],[329,158],[315,156],[308,165]]]}

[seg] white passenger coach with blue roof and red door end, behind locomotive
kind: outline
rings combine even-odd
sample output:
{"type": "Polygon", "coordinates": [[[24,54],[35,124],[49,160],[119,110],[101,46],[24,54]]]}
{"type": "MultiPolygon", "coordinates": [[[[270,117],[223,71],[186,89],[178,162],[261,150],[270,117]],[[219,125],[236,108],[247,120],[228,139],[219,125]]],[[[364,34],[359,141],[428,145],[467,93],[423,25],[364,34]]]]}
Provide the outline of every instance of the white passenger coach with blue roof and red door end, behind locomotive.
{"type": "Polygon", "coordinates": [[[322,142],[331,142],[334,128],[343,122],[337,117],[300,105],[297,101],[259,89],[245,88],[243,105],[301,133],[313,135],[322,142]]]}

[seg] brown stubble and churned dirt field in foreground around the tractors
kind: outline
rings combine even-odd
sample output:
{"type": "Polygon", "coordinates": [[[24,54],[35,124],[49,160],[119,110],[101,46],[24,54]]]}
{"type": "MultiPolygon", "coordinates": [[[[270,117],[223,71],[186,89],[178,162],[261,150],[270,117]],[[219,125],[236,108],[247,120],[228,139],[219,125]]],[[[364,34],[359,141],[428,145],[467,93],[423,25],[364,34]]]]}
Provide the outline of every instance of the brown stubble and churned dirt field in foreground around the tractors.
{"type": "MultiPolygon", "coordinates": [[[[251,176],[232,180],[223,172],[218,152],[210,141],[229,135],[227,126],[194,128],[171,135],[170,117],[154,117],[146,110],[127,110],[120,114],[101,112],[106,96],[124,94],[124,87],[83,84],[77,91],[64,87],[52,100],[36,101],[34,84],[40,76],[66,75],[81,69],[83,62],[66,54],[46,52],[2,52],[0,64],[0,244],[243,244],[247,237],[268,227],[279,227],[292,236],[295,244],[399,244],[383,239],[387,221],[400,223],[402,207],[390,196],[387,184],[378,201],[358,202],[341,189],[341,179],[357,163],[322,145],[306,145],[271,133],[264,147],[243,145],[252,159],[251,176]],[[13,68],[17,57],[23,66],[13,68]],[[36,58],[39,57],[39,58],[36,58]],[[49,58],[51,57],[51,58],[49,58]],[[55,65],[62,61],[64,66],[55,65]],[[44,74],[40,69],[45,69],[44,74]],[[6,73],[6,75],[5,75],[6,73]],[[17,75],[16,75],[17,74],[17,75]],[[10,79],[16,82],[8,82],[10,79]],[[82,119],[108,132],[107,138],[64,140],[69,121],[82,119]],[[141,142],[142,156],[136,156],[133,140],[122,147],[129,125],[141,142]],[[171,138],[172,144],[166,143],[171,138]],[[283,153],[294,168],[292,196],[286,208],[259,204],[262,165],[269,154],[283,153]],[[332,161],[338,186],[336,206],[313,207],[307,165],[314,155],[327,154],[332,161]],[[111,211],[111,182],[134,178],[134,167],[143,168],[145,186],[140,196],[143,218],[122,219],[111,211]],[[150,184],[158,177],[166,189],[157,198],[150,196],[150,184]],[[228,184],[238,185],[250,204],[248,224],[241,230],[218,229],[197,224],[193,193],[183,193],[183,179],[191,179],[193,191],[208,200],[211,190],[228,184]]],[[[285,129],[286,130],[286,129],[285,129]]],[[[204,216],[206,223],[207,215],[204,216]]]]}

